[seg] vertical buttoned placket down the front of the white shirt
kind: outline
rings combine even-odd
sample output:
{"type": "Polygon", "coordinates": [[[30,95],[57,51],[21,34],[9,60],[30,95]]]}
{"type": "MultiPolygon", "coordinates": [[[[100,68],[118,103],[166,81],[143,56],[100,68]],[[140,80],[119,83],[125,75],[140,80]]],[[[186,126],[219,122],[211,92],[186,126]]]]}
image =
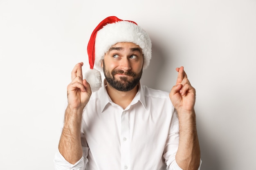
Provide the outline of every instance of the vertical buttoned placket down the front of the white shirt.
{"type": "Polygon", "coordinates": [[[130,139],[129,139],[129,120],[128,111],[124,110],[121,115],[121,169],[130,169],[130,139]]]}

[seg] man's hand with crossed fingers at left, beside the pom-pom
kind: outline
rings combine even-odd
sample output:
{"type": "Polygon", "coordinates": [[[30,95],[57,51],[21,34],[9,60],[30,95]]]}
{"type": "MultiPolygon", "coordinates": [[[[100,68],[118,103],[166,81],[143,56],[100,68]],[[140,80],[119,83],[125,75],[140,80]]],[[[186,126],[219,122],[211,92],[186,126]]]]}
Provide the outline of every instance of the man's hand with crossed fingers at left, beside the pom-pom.
{"type": "Polygon", "coordinates": [[[72,82],[67,86],[68,107],[83,110],[92,95],[90,84],[83,79],[83,62],[76,64],[72,70],[72,82]]]}

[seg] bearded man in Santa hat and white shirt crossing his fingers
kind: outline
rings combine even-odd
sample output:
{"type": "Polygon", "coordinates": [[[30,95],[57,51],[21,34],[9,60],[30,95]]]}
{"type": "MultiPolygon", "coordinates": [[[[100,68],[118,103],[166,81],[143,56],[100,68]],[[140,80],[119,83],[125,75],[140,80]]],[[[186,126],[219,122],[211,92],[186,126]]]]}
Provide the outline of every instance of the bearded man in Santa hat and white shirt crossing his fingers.
{"type": "Polygon", "coordinates": [[[76,64],[67,86],[56,170],[200,169],[195,89],[184,68],[176,68],[170,93],[142,86],[151,41],[135,22],[116,17],[94,29],[88,56],[92,72],[83,79],[83,63],[76,64]],[[106,78],[100,89],[94,66],[106,78]]]}

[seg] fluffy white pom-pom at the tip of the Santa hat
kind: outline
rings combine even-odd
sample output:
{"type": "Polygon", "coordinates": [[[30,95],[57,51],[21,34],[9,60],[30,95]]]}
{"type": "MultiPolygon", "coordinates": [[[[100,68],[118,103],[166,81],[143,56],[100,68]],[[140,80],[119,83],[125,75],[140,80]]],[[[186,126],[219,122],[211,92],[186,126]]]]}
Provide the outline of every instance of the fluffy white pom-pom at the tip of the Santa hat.
{"type": "Polygon", "coordinates": [[[101,88],[101,73],[96,69],[90,69],[85,74],[86,81],[90,84],[92,92],[101,88]]]}

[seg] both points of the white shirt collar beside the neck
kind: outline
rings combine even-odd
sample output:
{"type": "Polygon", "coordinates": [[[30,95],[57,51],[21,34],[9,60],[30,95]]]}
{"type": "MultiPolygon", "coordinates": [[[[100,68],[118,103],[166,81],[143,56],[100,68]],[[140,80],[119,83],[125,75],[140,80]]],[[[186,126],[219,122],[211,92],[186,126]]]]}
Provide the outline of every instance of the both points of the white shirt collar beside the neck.
{"type": "MultiPolygon", "coordinates": [[[[112,100],[110,99],[108,92],[106,90],[107,86],[107,81],[104,79],[101,88],[99,89],[99,96],[101,97],[101,112],[103,112],[104,108],[108,105],[113,103],[112,100]]],[[[141,82],[139,82],[139,90],[135,97],[133,98],[132,102],[130,105],[136,104],[138,101],[141,102],[142,106],[146,110],[146,99],[145,99],[145,92],[144,88],[141,85],[141,82]]]]}

